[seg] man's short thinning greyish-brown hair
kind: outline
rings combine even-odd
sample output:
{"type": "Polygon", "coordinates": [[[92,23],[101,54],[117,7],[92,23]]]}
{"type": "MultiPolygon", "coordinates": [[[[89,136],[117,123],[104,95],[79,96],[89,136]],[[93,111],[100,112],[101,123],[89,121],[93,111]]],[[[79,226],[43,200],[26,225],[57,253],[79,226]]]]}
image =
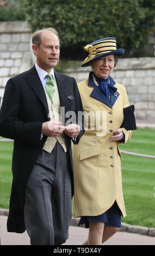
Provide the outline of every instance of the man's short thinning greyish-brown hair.
{"type": "Polygon", "coordinates": [[[59,36],[58,36],[58,32],[56,31],[55,28],[43,28],[43,29],[39,29],[37,31],[35,31],[32,35],[32,43],[34,45],[36,45],[38,48],[40,47],[40,44],[41,44],[41,35],[42,35],[42,32],[44,31],[51,31],[53,32],[55,35],[57,35],[57,38],[59,40],[59,36]]]}

